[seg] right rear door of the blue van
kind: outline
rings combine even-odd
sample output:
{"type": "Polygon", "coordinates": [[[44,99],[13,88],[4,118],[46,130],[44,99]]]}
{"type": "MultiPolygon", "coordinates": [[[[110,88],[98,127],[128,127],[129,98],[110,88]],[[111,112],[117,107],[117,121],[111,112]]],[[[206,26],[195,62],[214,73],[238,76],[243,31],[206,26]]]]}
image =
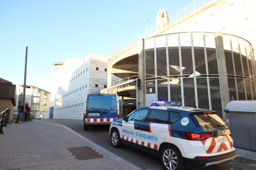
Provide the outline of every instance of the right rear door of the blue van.
{"type": "Polygon", "coordinates": [[[116,95],[102,95],[102,117],[117,118],[117,99],[116,95]]]}

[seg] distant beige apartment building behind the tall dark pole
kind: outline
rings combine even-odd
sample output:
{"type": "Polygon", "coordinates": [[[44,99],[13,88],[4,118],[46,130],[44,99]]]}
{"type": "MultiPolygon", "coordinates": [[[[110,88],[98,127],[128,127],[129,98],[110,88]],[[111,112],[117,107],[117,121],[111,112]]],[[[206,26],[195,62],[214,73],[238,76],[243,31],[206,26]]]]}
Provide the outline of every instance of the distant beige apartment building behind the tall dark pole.
{"type": "MultiPolygon", "coordinates": [[[[17,103],[15,109],[17,109],[19,102],[22,101],[23,98],[23,86],[20,87],[22,88],[16,89],[17,103]]],[[[45,118],[45,109],[49,107],[50,99],[50,92],[35,86],[26,86],[25,103],[29,104],[30,114],[32,117],[42,115],[43,118],[45,118]]]]}

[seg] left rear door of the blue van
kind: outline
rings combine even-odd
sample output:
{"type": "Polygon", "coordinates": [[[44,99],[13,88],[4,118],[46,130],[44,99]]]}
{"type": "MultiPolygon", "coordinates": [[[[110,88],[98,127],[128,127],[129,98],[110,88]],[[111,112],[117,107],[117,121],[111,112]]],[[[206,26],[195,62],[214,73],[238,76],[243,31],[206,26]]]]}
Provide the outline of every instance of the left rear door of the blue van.
{"type": "Polygon", "coordinates": [[[101,95],[88,95],[87,118],[102,118],[101,95]]]}

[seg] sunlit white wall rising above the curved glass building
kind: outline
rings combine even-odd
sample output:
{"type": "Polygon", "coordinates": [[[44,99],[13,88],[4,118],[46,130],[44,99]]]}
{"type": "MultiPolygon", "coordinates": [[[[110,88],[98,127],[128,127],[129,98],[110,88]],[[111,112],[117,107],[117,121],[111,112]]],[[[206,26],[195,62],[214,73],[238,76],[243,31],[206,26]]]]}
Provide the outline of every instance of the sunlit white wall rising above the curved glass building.
{"type": "Polygon", "coordinates": [[[179,23],[162,34],[178,32],[216,32],[233,34],[256,46],[256,1],[223,0],[216,6],[179,23]]]}

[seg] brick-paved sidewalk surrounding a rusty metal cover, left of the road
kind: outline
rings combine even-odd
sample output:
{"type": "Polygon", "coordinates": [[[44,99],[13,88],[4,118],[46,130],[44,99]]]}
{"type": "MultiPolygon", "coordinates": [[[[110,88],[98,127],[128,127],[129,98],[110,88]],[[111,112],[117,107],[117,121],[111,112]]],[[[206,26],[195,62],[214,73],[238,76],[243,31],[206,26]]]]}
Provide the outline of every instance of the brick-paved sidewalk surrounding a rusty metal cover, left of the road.
{"type": "Polygon", "coordinates": [[[66,126],[34,120],[4,127],[4,135],[0,135],[0,169],[140,168],[66,126]],[[103,158],[78,160],[68,150],[72,147],[90,147],[103,158]]]}

